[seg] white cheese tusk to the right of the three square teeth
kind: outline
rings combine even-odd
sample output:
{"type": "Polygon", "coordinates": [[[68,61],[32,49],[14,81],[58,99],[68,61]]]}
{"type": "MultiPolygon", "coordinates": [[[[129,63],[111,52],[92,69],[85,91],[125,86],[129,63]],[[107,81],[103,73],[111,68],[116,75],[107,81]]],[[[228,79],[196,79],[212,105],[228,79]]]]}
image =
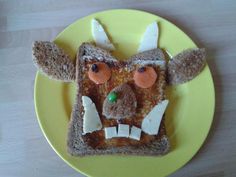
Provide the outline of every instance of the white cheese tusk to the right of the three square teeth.
{"type": "Polygon", "coordinates": [[[168,105],[168,100],[164,100],[156,105],[143,119],[142,130],[149,135],[156,135],[159,131],[163,114],[168,105]]]}

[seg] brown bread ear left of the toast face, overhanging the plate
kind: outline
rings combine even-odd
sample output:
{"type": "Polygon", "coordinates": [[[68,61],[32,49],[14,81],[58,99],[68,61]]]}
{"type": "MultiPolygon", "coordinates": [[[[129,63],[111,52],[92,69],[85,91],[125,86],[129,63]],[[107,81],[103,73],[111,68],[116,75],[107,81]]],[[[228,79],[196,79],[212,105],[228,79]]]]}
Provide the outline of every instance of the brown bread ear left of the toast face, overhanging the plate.
{"type": "Polygon", "coordinates": [[[33,61],[41,73],[64,82],[75,80],[75,65],[63,49],[49,41],[35,41],[33,61]]]}

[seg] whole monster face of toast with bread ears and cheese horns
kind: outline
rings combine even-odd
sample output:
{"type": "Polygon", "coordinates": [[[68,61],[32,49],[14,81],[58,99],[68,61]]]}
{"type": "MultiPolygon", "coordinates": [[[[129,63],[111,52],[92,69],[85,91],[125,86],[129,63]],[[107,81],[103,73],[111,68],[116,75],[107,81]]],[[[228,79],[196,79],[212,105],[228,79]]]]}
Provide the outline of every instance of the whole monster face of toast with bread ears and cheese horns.
{"type": "MultiPolygon", "coordinates": [[[[95,43],[109,49],[111,42],[98,21],[93,20],[92,29],[95,43]]],[[[55,43],[34,42],[33,61],[41,73],[76,82],[67,138],[71,155],[161,156],[169,152],[165,86],[195,78],[205,66],[205,50],[187,49],[166,61],[157,40],[158,26],[153,22],[139,45],[144,52],[118,61],[110,52],[83,43],[76,64],[55,43]]]]}

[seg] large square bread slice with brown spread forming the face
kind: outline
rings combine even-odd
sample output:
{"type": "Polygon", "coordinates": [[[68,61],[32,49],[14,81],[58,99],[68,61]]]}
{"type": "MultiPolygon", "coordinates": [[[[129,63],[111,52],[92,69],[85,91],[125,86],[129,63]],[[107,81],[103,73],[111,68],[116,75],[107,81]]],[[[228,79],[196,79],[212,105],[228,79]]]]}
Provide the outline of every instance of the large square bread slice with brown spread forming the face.
{"type": "Polygon", "coordinates": [[[141,134],[140,141],[127,138],[105,139],[104,130],[83,134],[82,96],[89,96],[95,103],[101,118],[103,128],[119,123],[116,120],[106,119],[102,114],[102,103],[106,95],[118,85],[128,83],[137,97],[137,116],[120,120],[121,123],[140,127],[140,123],[158,102],[165,99],[165,61],[161,50],[152,50],[131,57],[127,62],[117,61],[109,52],[95,47],[89,43],[80,46],[76,59],[76,85],[77,95],[72,110],[67,138],[68,152],[74,156],[102,155],[102,154],[127,154],[159,156],[166,154],[170,143],[166,135],[164,117],[161,121],[157,135],[141,134]],[[148,56],[148,57],[146,57],[148,56]],[[86,71],[91,63],[102,61],[112,70],[111,79],[103,85],[93,84],[87,77],[86,71]],[[142,90],[132,81],[132,70],[137,65],[155,65],[158,79],[150,89],[142,90]],[[121,71],[122,70],[122,71],[121,71]],[[150,97],[152,96],[152,97],[150,97]]]}

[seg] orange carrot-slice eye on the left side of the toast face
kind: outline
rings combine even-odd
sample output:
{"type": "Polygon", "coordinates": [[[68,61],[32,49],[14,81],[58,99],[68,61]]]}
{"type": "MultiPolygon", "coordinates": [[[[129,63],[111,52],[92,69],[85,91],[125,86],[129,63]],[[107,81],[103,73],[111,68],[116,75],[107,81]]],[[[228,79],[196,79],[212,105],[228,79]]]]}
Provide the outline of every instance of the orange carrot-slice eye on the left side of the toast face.
{"type": "Polygon", "coordinates": [[[96,84],[103,84],[111,77],[109,66],[103,62],[93,63],[88,71],[88,77],[96,84]]]}

